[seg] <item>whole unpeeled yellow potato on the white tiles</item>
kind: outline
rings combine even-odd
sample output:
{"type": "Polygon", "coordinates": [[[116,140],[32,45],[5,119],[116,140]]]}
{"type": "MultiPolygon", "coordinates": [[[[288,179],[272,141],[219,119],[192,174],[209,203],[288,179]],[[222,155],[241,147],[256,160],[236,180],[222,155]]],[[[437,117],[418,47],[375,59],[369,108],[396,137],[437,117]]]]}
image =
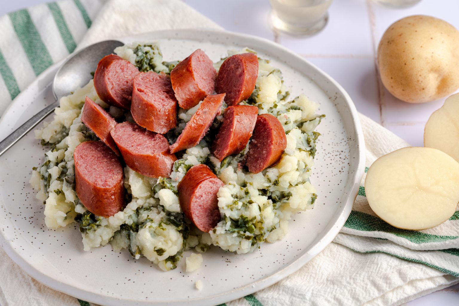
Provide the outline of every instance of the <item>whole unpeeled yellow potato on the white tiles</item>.
{"type": "Polygon", "coordinates": [[[437,100],[459,88],[459,31],[441,19],[409,16],[393,23],[378,47],[386,89],[410,103],[437,100]]]}

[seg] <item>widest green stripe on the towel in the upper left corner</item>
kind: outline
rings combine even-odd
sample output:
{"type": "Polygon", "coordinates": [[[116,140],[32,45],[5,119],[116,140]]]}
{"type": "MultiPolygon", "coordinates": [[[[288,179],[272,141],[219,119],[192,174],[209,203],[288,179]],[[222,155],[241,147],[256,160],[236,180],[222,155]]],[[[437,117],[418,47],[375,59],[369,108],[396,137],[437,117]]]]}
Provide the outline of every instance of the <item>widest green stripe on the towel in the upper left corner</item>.
{"type": "Polygon", "coordinates": [[[16,31],[17,37],[34,69],[39,75],[53,64],[53,60],[35,28],[27,10],[14,11],[8,14],[16,31]]]}

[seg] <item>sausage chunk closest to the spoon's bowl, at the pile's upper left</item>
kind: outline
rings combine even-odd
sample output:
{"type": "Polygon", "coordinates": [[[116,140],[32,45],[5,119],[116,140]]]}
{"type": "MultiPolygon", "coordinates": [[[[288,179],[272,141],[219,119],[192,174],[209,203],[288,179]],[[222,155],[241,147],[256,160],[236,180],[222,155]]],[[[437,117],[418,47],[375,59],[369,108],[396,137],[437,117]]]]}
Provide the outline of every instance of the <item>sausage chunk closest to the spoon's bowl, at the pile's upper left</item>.
{"type": "Polygon", "coordinates": [[[132,82],[138,73],[130,61],[114,54],[104,56],[94,72],[95,91],[107,104],[129,110],[132,82]]]}

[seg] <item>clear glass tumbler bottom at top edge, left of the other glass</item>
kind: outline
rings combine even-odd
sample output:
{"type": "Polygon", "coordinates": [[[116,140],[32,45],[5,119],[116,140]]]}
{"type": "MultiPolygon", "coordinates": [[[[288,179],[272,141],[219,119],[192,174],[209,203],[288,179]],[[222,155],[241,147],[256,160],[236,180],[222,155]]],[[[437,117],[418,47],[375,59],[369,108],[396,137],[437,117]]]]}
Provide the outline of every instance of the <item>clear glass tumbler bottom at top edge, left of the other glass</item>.
{"type": "Polygon", "coordinates": [[[273,27],[292,35],[310,36],[328,22],[333,0],[269,0],[273,27]]]}

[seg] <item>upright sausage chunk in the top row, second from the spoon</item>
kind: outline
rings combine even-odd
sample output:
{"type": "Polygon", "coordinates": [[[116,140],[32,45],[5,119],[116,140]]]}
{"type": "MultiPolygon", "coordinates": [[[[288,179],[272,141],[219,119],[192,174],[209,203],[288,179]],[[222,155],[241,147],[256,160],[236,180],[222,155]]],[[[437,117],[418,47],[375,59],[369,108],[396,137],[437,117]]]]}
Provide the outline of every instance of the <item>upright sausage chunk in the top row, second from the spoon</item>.
{"type": "Polygon", "coordinates": [[[131,113],[147,130],[165,134],[177,125],[177,100],[164,72],[140,72],[134,78],[131,113]]]}

